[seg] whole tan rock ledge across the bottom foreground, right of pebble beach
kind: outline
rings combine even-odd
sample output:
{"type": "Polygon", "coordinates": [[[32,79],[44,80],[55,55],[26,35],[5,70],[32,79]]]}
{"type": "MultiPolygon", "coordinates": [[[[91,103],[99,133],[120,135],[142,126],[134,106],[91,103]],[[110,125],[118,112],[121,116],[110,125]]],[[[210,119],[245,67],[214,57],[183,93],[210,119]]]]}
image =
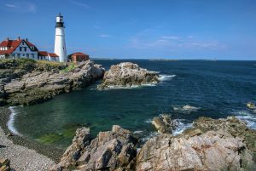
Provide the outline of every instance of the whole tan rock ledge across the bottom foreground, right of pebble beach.
{"type": "MultiPolygon", "coordinates": [[[[160,119],[172,122],[166,116],[160,119]]],[[[82,128],[53,170],[253,171],[256,170],[255,136],[256,131],[236,117],[217,120],[200,117],[194,128],[183,134],[162,133],[140,149],[137,138],[119,126],[99,133],[94,140],[89,138],[89,129],[82,128]]]]}

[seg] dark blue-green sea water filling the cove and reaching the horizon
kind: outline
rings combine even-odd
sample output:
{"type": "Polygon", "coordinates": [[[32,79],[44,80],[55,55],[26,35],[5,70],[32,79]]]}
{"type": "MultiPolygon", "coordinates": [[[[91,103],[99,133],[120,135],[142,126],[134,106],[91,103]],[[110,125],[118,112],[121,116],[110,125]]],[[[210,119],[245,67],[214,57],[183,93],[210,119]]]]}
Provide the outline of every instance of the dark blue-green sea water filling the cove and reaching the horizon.
{"type": "MultiPolygon", "coordinates": [[[[108,69],[121,61],[96,60],[96,63],[108,69]]],[[[14,128],[30,139],[51,139],[48,142],[57,146],[70,144],[74,128],[83,124],[93,134],[119,124],[147,138],[155,134],[151,119],[162,113],[171,114],[181,122],[177,132],[201,116],[236,115],[256,128],[256,111],[246,107],[247,101],[256,102],[256,61],[125,61],[160,71],[164,77],[156,86],[130,89],[99,91],[95,83],[43,104],[16,107],[14,128]],[[198,109],[179,110],[183,105],[198,109]]]]}

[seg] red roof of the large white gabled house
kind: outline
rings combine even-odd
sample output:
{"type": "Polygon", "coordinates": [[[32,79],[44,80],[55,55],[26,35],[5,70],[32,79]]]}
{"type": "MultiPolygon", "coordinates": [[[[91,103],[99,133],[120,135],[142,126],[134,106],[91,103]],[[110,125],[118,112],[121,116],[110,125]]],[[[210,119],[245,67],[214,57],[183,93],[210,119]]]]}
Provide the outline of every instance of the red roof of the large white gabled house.
{"type": "Polygon", "coordinates": [[[0,43],[0,47],[8,47],[8,50],[0,50],[0,54],[11,54],[15,51],[15,49],[22,43],[22,41],[25,41],[28,46],[35,46],[32,43],[24,40],[24,39],[18,39],[18,40],[4,40],[2,43],[0,43]]]}

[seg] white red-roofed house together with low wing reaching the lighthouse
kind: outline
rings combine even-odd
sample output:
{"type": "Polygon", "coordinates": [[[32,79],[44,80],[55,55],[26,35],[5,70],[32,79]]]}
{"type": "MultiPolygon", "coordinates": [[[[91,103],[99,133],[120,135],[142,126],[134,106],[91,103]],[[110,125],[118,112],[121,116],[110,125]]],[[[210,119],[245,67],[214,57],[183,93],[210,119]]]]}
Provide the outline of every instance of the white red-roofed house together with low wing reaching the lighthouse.
{"type": "Polygon", "coordinates": [[[19,59],[26,58],[32,60],[60,61],[55,53],[38,51],[38,48],[28,42],[27,39],[4,40],[0,43],[0,59],[19,59]]]}

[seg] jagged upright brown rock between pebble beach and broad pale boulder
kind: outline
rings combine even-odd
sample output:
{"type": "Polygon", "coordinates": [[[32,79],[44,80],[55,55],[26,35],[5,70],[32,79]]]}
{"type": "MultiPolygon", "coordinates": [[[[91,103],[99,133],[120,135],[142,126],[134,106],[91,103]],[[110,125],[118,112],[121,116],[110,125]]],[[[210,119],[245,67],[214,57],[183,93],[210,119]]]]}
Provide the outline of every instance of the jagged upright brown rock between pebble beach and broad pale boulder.
{"type": "Polygon", "coordinates": [[[54,170],[132,170],[137,155],[137,138],[130,131],[113,125],[112,131],[100,132],[89,142],[88,131],[77,131],[73,145],[67,148],[54,170]]]}

